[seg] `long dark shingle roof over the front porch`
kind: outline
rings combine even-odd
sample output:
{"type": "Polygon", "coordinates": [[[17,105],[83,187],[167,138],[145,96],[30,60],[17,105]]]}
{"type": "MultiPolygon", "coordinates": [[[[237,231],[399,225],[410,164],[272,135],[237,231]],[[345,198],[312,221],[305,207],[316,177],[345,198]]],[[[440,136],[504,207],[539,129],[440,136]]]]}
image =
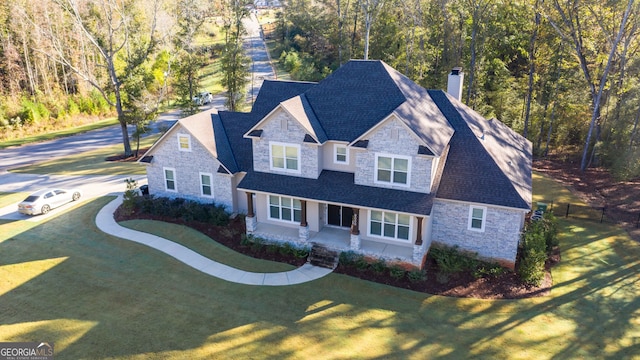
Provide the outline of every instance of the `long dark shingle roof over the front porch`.
{"type": "Polygon", "coordinates": [[[238,189],[417,215],[431,214],[435,197],[433,194],[357,185],[354,174],[330,170],[322,171],[318,179],[249,172],[238,184],[238,189]]]}

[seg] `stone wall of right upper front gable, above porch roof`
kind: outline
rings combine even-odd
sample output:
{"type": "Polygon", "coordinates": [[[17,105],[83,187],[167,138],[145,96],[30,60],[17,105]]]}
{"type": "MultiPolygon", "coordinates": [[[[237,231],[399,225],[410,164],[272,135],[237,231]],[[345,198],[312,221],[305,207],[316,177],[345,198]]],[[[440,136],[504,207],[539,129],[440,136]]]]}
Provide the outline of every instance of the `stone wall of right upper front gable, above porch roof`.
{"type": "Polygon", "coordinates": [[[419,143],[415,135],[395,118],[381,125],[369,137],[369,146],[365,151],[354,151],[356,156],[355,183],[376,187],[389,187],[398,190],[429,193],[431,191],[432,158],[418,156],[419,143]],[[394,139],[392,134],[397,133],[394,139]],[[376,153],[411,157],[410,186],[386,185],[375,182],[376,153]]]}

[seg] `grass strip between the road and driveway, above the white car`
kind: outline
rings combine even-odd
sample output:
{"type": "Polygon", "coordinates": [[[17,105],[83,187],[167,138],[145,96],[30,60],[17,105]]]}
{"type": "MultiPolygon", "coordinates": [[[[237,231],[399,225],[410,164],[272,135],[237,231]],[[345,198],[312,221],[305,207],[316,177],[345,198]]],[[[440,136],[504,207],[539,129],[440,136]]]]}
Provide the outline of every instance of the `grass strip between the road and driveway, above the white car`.
{"type": "MultiPolygon", "coordinates": [[[[140,148],[146,148],[160,137],[151,135],[140,141],[140,148]]],[[[132,144],[133,145],[133,144],[132,144]]],[[[135,150],[135,149],[134,149],[135,150]]],[[[122,154],[122,145],[107,146],[100,149],[66,156],[11,170],[24,174],[58,175],[144,175],[146,168],[136,162],[106,161],[109,156],[122,154]]]]}

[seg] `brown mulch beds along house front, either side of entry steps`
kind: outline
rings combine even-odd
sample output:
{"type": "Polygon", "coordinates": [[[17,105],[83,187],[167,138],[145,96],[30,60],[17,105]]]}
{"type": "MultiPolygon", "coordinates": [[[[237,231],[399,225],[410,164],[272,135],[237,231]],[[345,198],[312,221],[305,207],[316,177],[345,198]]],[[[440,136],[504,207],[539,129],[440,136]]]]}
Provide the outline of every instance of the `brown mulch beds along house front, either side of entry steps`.
{"type": "MultiPolygon", "coordinates": [[[[202,232],[228,248],[248,256],[288,263],[297,267],[302,266],[306,262],[306,258],[297,258],[291,255],[285,256],[278,251],[267,251],[266,247],[262,247],[256,251],[256,249],[251,246],[241,245],[241,235],[239,234],[244,234],[245,232],[245,224],[241,218],[233,219],[228,226],[213,226],[206,223],[185,222],[180,219],[150,216],[148,214],[126,214],[120,208],[116,211],[114,217],[116,221],[148,219],[185,225],[202,232]],[[229,229],[233,231],[229,231],[229,229]]],[[[425,264],[426,279],[423,281],[412,282],[406,275],[401,279],[396,279],[389,274],[388,270],[376,272],[369,268],[362,271],[355,266],[344,266],[341,264],[338,265],[335,272],[363,280],[434,295],[481,299],[520,299],[549,295],[552,279],[548,269],[556,264],[559,259],[559,251],[556,251],[555,254],[550,257],[550,260],[547,262],[545,280],[540,287],[522,284],[517,275],[511,271],[507,271],[499,276],[486,278],[475,278],[471,272],[465,271],[451,274],[448,276],[448,280],[443,282],[441,277],[437,276],[437,265],[431,258],[427,258],[427,263],[425,264]]]]}

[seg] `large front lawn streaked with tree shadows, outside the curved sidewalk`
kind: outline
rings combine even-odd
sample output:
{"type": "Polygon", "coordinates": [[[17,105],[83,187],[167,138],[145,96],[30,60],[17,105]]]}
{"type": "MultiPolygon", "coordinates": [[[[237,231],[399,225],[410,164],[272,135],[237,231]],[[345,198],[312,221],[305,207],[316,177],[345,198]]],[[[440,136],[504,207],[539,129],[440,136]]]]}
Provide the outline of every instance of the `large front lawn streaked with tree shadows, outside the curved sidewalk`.
{"type": "Polygon", "coordinates": [[[638,249],[604,226],[561,239],[598,258],[563,254],[549,297],[457,299],[338,274],[286,287],[225,282],[101,233],[95,214],[111,199],[0,243],[0,269],[52,261],[6,292],[0,285],[0,338],[53,341],[60,359],[623,358],[636,349],[624,346],[638,326],[638,249]]]}

